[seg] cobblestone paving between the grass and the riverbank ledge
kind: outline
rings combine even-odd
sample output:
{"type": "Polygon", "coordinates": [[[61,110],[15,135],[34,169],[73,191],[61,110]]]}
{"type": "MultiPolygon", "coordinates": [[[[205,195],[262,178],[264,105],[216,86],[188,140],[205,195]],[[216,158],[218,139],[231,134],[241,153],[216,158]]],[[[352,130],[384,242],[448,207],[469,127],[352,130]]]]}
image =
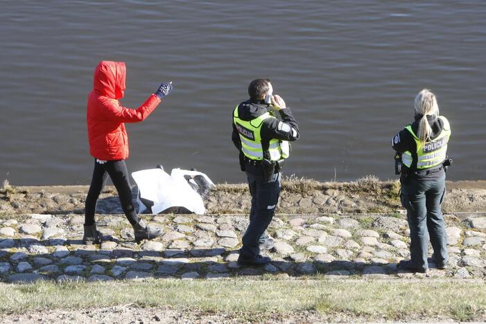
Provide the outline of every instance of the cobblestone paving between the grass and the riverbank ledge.
{"type": "Polygon", "coordinates": [[[80,215],[15,215],[0,221],[0,279],[118,280],[324,276],[325,278],[480,278],[486,276],[486,214],[446,215],[449,269],[404,273],[404,215],[277,215],[265,267],[236,264],[248,215],[144,215],[164,235],[138,245],[123,215],[97,215],[101,244],[81,241],[80,215]]]}

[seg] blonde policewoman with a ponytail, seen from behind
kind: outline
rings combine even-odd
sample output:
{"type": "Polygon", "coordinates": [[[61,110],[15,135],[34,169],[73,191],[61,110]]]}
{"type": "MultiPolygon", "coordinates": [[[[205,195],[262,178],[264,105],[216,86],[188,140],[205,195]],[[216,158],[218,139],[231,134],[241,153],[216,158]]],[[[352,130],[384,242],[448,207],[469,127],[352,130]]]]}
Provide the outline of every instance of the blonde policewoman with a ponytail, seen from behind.
{"type": "MultiPolygon", "coordinates": [[[[415,121],[392,138],[392,147],[401,165],[401,204],[407,210],[410,227],[410,260],[399,267],[406,271],[428,270],[430,238],[433,262],[447,267],[447,235],[440,205],[445,194],[447,143],[451,136],[449,121],[439,115],[435,95],[428,89],[415,97],[415,121]]],[[[398,171],[396,167],[396,171],[398,171]]]]}

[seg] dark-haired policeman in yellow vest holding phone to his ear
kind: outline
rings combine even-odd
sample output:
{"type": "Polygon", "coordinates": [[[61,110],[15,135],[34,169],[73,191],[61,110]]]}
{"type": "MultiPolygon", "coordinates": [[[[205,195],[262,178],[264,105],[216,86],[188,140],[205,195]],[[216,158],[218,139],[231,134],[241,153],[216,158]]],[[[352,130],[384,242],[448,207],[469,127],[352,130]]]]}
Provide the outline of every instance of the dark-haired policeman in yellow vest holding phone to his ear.
{"type": "Polygon", "coordinates": [[[248,87],[250,99],[233,111],[232,141],[252,195],[250,224],[243,235],[238,264],[263,265],[271,260],[260,251],[273,246],[266,229],[280,195],[280,170],[290,154],[288,141],[299,138],[292,112],[272,92],[270,80],[253,80],[248,87]]]}

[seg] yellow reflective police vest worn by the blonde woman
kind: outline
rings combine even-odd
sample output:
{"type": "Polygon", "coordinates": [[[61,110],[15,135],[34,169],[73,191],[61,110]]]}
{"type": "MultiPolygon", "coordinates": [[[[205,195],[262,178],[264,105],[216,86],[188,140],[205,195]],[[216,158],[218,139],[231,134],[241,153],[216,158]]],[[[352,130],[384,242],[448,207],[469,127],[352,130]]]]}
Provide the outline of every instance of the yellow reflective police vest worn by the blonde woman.
{"type": "MultiPolygon", "coordinates": [[[[428,168],[433,168],[437,165],[442,164],[446,159],[447,152],[447,142],[449,142],[449,136],[451,136],[451,128],[449,126],[449,121],[444,116],[439,116],[444,127],[439,136],[434,138],[433,141],[428,141],[422,144],[417,135],[412,130],[412,126],[408,125],[405,129],[412,134],[415,144],[417,145],[417,170],[424,170],[428,168]]],[[[409,151],[403,152],[401,154],[401,163],[406,165],[407,168],[413,164],[413,156],[409,151]]]]}

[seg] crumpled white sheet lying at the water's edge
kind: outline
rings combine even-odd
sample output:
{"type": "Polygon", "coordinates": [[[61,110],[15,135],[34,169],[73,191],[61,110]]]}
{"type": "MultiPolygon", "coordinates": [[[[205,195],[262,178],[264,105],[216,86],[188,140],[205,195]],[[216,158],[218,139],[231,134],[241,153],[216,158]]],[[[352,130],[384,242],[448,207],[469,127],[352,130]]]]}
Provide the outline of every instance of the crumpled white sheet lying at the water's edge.
{"type": "MultiPolygon", "coordinates": [[[[157,168],[132,172],[132,177],[139,187],[140,197],[153,201],[152,213],[158,214],[167,208],[177,206],[187,208],[192,213],[204,214],[206,212],[204,202],[198,192],[189,186],[184,174],[201,175],[214,186],[206,174],[178,168],[173,169],[171,175],[157,168]]],[[[139,213],[146,209],[141,201],[139,206],[139,213]]]]}

